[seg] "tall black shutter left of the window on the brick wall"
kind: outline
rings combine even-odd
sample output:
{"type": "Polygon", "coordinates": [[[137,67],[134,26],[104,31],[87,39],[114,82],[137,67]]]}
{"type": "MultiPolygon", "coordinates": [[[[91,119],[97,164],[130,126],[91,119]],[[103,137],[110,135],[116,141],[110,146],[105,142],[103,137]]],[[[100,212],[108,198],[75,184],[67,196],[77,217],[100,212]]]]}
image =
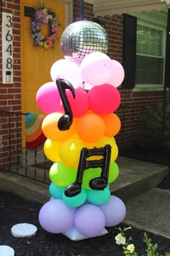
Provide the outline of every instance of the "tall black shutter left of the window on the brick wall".
{"type": "Polygon", "coordinates": [[[122,67],[125,70],[125,79],[122,88],[135,86],[136,30],[137,17],[123,14],[122,67]]]}

